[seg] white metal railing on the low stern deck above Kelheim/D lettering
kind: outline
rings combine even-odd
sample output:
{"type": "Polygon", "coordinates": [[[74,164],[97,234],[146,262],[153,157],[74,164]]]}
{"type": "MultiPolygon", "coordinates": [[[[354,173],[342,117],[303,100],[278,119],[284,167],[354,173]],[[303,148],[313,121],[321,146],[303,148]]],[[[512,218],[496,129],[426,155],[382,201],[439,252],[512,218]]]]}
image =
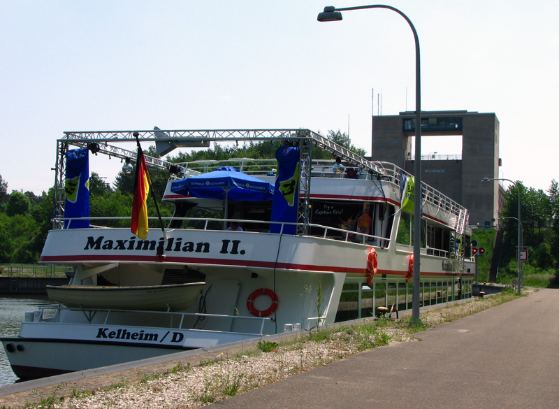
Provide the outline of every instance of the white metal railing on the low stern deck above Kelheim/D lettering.
{"type": "MultiPolygon", "coordinates": [[[[172,328],[172,329],[189,329],[194,331],[215,331],[212,329],[199,329],[196,328],[196,324],[199,321],[207,320],[207,319],[216,319],[216,320],[241,320],[241,321],[253,321],[257,322],[260,321],[260,329],[259,332],[256,333],[242,333],[242,335],[250,335],[250,336],[263,336],[264,335],[264,324],[266,321],[270,321],[271,319],[268,317],[250,317],[250,316],[241,316],[241,315],[224,315],[224,314],[208,314],[208,313],[183,313],[177,311],[151,311],[151,310],[119,310],[116,308],[75,308],[75,307],[66,307],[62,304],[44,304],[41,306],[37,306],[40,314],[34,315],[33,322],[58,322],[60,317],[61,311],[74,311],[83,313],[85,319],[89,324],[93,324],[94,318],[99,314],[105,314],[103,318],[103,325],[110,325],[110,324],[122,324],[120,319],[125,318],[126,322],[128,319],[134,320],[135,317],[141,317],[142,322],[145,323],[145,320],[148,315],[151,315],[154,320],[149,320],[150,324],[149,327],[155,328],[172,328]],[[185,325],[185,320],[189,317],[196,317],[196,323],[191,326],[191,328],[185,325]]],[[[67,317],[65,318],[65,323],[68,323],[67,317]]],[[[71,323],[71,322],[70,322],[71,323]]],[[[79,322],[76,322],[78,324],[79,322]]],[[[95,325],[100,324],[96,322],[95,325]]],[[[133,325],[132,325],[133,327],[133,325]]],[[[143,324],[145,327],[145,324],[143,324]]]]}

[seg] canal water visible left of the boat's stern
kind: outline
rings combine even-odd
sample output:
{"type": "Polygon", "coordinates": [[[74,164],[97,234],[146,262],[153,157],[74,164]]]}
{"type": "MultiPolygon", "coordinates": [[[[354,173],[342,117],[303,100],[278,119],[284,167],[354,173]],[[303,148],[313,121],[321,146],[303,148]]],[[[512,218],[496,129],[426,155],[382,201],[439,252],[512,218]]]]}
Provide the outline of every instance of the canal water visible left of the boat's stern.
{"type": "MultiPolygon", "coordinates": [[[[25,312],[36,310],[36,306],[45,303],[48,303],[46,296],[0,296],[0,336],[17,335],[25,312]]],[[[0,345],[0,386],[10,385],[17,379],[10,368],[6,351],[0,345]]]]}

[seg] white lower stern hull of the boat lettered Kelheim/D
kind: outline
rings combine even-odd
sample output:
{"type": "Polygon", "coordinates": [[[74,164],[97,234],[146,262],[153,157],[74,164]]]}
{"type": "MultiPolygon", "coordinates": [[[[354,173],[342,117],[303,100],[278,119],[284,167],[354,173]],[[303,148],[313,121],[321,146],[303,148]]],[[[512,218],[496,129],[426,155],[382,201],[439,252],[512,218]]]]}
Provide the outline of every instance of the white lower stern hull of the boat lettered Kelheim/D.
{"type": "MultiPolygon", "coordinates": [[[[82,311],[78,311],[78,314],[82,314],[82,311]]],[[[24,322],[20,336],[3,337],[0,340],[15,375],[22,380],[29,380],[258,336],[254,333],[133,327],[97,322],[24,322]]]]}

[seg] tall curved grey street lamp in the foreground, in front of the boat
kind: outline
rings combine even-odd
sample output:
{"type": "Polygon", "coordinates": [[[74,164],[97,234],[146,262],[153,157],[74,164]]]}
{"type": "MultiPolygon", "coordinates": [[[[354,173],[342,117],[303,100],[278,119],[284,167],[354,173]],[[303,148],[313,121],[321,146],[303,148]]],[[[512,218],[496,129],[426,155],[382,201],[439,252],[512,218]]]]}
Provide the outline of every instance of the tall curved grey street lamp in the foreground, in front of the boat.
{"type": "Polygon", "coordinates": [[[417,31],[411,20],[402,13],[398,8],[386,6],[384,4],[373,4],[370,6],[355,6],[346,8],[335,8],[334,6],[326,6],[324,11],[319,13],[317,20],[320,22],[340,21],[342,20],[342,11],[363,10],[365,8],[387,8],[395,11],[407,21],[412,29],[415,41],[415,190],[414,190],[414,278],[412,289],[412,317],[414,323],[419,322],[419,282],[420,282],[420,249],[421,249],[421,73],[419,59],[419,38],[417,31]]]}

